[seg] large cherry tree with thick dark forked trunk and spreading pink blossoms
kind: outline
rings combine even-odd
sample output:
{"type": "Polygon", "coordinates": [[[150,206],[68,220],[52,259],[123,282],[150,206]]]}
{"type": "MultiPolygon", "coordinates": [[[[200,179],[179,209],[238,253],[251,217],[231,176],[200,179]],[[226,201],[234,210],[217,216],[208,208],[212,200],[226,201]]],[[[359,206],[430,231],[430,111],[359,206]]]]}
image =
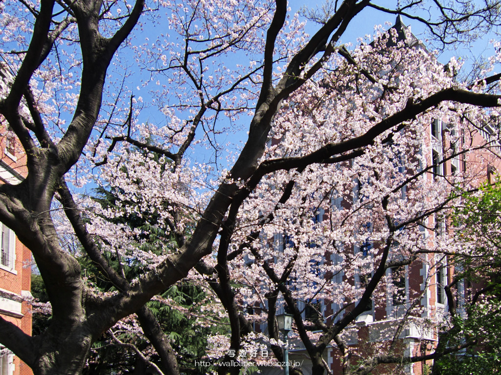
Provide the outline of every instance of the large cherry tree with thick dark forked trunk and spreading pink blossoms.
{"type": "MultiPolygon", "coordinates": [[[[499,106],[500,96],[485,86],[497,75],[456,82],[454,61],[449,73],[433,55],[398,44],[394,33],[355,48],[340,45],[340,37],[370,7],[423,22],[443,44],[469,40],[498,22],[498,4],[483,5],[432,1],[423,18],[414,15],[421,1],[391,9],[346,0],[312,13],[319,26],[309,36],[282,0],[2,2],[0,119],[17,136],[27,175],[0,186],[0,220],[32,251],[53,314],[34,337],[0,318],[2,344],[36,374],[80,373],[92,343],[109,332],[155,371],[180,373],[170,340],[145,304],[189,278],[210,288],[214,309],[229,321],[229,336],[212,339],[213,355],[271,344],[281,359],[275,315],[285,303],[314,373],[326,370],[322,355],[333,342],[351,368],[346,328],[381,295],[386,270],[425,253],[467,249],[460,241],[425,242],[421,228],[452,204],[451,186],[477,178],[436,166],[478,147],[485,151],[481,162],[492,155],[489,141],[473,138],[497,118],[494,109],[481,108],[499,106]],[[142,121],[149,115],[162,120],[142,121]],[[417,150],[432,118],[454,131],[445,138],[444,158],[427,162],[417,150]],[[247,139],[226,151],[224,136],[239,131],[247,139]],[[413,157],[402,160],[407,155],[413,157]],[[355,180],[356,204],[332,209],[337,198],[354,199],[355,180]],[[117,192],[116,207],[79,194],[94,182],[117,192]],[[144,250],[153,230],[116,220],[132,214],[155,218],[152,226],[164,238],[154,250],[144,250]],[[327,219],[312,220],[318,215],[327,219]],[[349,250],[369,236],[377,244],[365,251],[371,256],[349,250]],[[116,291],[96,290],[75,251],[116,291]],[[123,271],[131,259],[143,265],[133,279],[123,271]],[[333,283],[341,271],[348,281],[333,283]],[[363,285],[359,274],[367,276],[363,285]],[[358,289],[349,282],[357,277],[358,289]],[[321,332],[314,332],[300,309],[329,298],[340,318],[317,319],[321,332]],[[131,319],[136,324],[127,318],[134,313],[158,365],[110,331],[131,319]],[[267,322],[268,334],[255,332],[253,322],[267,322]]],[[[356,372],[423,359],[392,349],[378,348],[356,372]]]]}

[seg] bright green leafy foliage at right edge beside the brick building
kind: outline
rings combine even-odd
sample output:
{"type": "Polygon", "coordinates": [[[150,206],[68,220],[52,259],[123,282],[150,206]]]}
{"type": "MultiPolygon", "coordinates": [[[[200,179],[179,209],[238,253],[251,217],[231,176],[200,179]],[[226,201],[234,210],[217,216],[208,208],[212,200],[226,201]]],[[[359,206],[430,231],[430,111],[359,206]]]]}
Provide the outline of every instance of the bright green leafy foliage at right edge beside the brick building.
{"type": "Polygon", "coordinates": [[[453,223],[462,229],[461,240],[475,245],[471,252],[456,256],[458,274],[484,288],[479,299],[465,301],[463,311],[454,316],[456,334],[447,337],[453,347],[475,340],[460,353],[436,360],[434,375],[490,375],[501,369],[501,182],[485,184],[479,194],[463,194],[453,223]]]}

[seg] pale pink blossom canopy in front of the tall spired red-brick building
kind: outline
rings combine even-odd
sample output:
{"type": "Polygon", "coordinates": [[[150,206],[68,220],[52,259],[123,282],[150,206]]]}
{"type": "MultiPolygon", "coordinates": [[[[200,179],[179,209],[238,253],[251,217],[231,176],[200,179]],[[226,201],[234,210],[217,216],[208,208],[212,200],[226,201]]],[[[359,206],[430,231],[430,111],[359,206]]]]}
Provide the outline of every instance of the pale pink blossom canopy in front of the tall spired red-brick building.
{"type": "MultiPolygon", "coordinates": [[[[390,31],[397,37],[396,29],[390,31]]],[[[305,83],[292,95],[274,123],[272,131],[280,142],[268,151],[273,159],[279,163],[288,162],[285,161],[288,158],[301,160],[322,147],[317,142],[325,144],[331,137],[342,141],[366,134],[372,121],[391,119],[400,114],[400,108],[413,105],[414,102],[408,101],[412,96],[410,91],[431,97],[431,91],[443,89],[445,82],[446,86],[459,84],[423,48],[416,45],[405,48],[396,40],[391,43],[397,48],[388,48],[388,38],[391,40],[391,32],[389,36],[377,34],[370,44],[362,43],[353,51],[356,57],[351,61],[339,56],[319,84],[305,83]],[[358,68],[354,69],[354,64],[358,68]],[[429,85],[418,83],[425,81],[429,85]],[[428,89],[431,91],[426,92],[428,89]],[[405,90],[409,93],[400,96],[399,92],[405,90]],[[398,97],[404,101],[398,103],[398,97]],[[340,126],[337,121],[350,126],[340,126]]],[[[449,67],[454,69],[454,64],[451,61],[449,67]]],[[[495,111],[482,112],[469,105],[444,103],[371,139],[368,148],[325,158],[323,165],[308,165],[299,173],[280,171],[275,178],[261,181],[253,198],[249,197],[244,204],[245,212],[255,212],[254,220],[265,220],[261,221],[264,226],[258,234],[253,231],[256,224],[238,218],[235,225],[244,237],[233,248],[238,251],[238,243],[248,243],[253,234],[270,240],[249,246],[246,256],[255,263],[244,271],[241,279],[246,287],[248,280],[254,281],[250,287],[257,293],[242,293],[242,298],[248,299],[248,305],[264,306],[270,336],[279,338],[270,326],[275,309],[285,304],[294,314],[297,335],[312,359],[314,373],[316,366],[327,367],[322,354],[332,341],[343,358],[344,373],[370,373],[384,363],[398,365],[392,373],[405,372],[405,366],[411,362],[435,359],[464,345],[474,345],[476,338],[471,337],[455,346],[442,345],[456,329],[449,326],[450,330],[439,338],[437,350],[405,356],[398,349],[402,330],[410,322],[419,321],[421,329],[434,331],[450,324],[450,316],[457,315],[455,301],[462,296],[451,287],[457,287],[464,279],[462,272],[450,284],[443,285],[445,290],[441,291],[444,295],[441,303],[447,294],[449,315],[447,311],[431,310],[426,311],[426,319],[416,319],[425,312],[421,299],[427,285],[440,290],[438,285],[444,282],[440,276],[444,272],[442,264],[451,267],[454,258],[475,257],[471,248],[477,239],[450,237],[446,235],[445,224],[450,221],[447,219],[450,208],[460,204],[458,191],[474,189],[477,181],[485,178],[487,165],[498,163],[498,133],[481,141],[476,138],[479,124],[492,124],[491,121],[497,121],[495,116],[495,111]],[[473,117],[476,119],[465,123],[465,118],[473,117]],[[441,135],[443,155],[434,160],[426,155],[434,147],[428,131],[436,118],[448,125],[441,135]],[[457,158],[464,161],[460,174],[448,162],[457,158]],[[475,165],[468,161],[473,158],[475,165]],[[283,194],[288,199],[280,201],[283,194]],[[266,195],[275,195],[271,201],[280,204],[263,207],[261,199],[266,195]],[[255,209],[248,210],[249,204],[250,207],[255,204],[255,209]],[[259,269],[257,264],[269,277],[268,283],[253,279],[259,269]],[[423,289],[409,289],[406,293],[405,281],[399,285],[398,279],[415,277],[413,273],[416,269],[421,272],[423,264],[429,265],[423,289]],[[259,287],[262,289],[258,291],[259,287]],[[282,301],[278,300],[279,295],[282,301]],[[392,298],[393,302],[388,302],[392,298]],[[393,304],[393,310],[388,310],[388,304],[393,304]],[[380,343],[370,350],[361,348],[362,345],[350,348],[348,342],[353,334],[350,326],[354,320],[366,310],[382,307],[386,307],[388,318],[398,319],[387,326],[374,325],[370,340],[380,343]],[[305,321],[306,311],[309,322],[305,321]],[[350,362],[352,356],[356,356],[355,363],[350,362]]],[[[244,257],[243,261],[246,260],[244,257]]],[[[484,292],[480,290],[478,296],[484,292]]],[[[464,309],[466,304],[461,303],[464,309]]],[[[280,350],[276,349],[280,356],[280,350]]]]}

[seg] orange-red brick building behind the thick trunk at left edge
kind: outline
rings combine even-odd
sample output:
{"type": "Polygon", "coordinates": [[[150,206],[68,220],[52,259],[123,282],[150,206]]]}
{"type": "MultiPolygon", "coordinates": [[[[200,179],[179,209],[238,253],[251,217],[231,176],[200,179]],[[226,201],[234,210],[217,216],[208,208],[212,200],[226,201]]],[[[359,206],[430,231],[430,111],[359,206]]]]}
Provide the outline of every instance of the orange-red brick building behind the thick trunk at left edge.
{"type": "MultiPolygon", "coordinates": [[[[0,88],[9,73],[0,64],[0,88]]],[[[1,118],[0,118],[1,120],[1,118]]],[[[27,175],[26,155],[21,153],[14,134],[0,123],[0,183],[18,184],[27,175]]],[[[32,333],[31,306],[24,297],[31,296],[32,254],[12,229],[0,222],[2,228],[0,258],[0,316],[32,333]]],[[[0,375],[30,375],[31,368],[0,346],[0,375]]]]}

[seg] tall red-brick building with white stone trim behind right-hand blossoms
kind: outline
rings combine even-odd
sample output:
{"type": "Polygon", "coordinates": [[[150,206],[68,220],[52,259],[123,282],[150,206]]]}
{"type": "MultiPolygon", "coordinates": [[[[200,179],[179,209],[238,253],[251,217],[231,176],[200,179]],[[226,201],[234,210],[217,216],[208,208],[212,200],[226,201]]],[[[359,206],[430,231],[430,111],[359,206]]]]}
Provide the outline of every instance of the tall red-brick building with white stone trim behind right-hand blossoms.
{"type": "MultiPolygon", "coordinates": [[[[393,27],[400,37],[407,31],[400,18],[397,18],[393,27]]],[[[410,46],[424,49],[424,46],[413,35],[410,38],[410,46]]],[[[493,181],[497,173],[496,170],[499,170],[501,164],[499,157],[495,156],[501,154],[498,129],[494,128],[492,124],[482,124],[469,134],[459,134],[458,132],[461,131],[459,129],[458,124],[450,123],[449,119],[445,117],[433,118],[430,122],[422,124],[421,128],[414,130],[419,132],[417,138],[421,139],[421,143],[412,153],[409,152],[398,157],[418,160],[414,163],[415,170],[405,170],[405,166],[403,166],[405,163],[398,161],[398,158],[393,155],[395,169],[398,169],[402,174],[406,172],[410,175],[421,174],[424,180],[443,181],[443,185],[449,185],[449,187],[445,187],[445,193],[447,193],[447,189],[448,192],[452,190],[454,186],[452,181],[459,175],[461,178],[467,175],[467,178],[471,179],[467,181],[467,184],[473,186],[482,181],[493,181]],[[486,144],[488,146],[484,146],[486,144]],[[456,148],[461,150],[471,148],[475,151],[456,154],[456,148]]],[[[272,145],[279,144],[280,141],[280,139],[272,139],[271,143],[272,145]]],[[[348,163],[346,162],[343,167],[350,169],[351,165],[348,163]]],[[[329,211],[332,210],[349,211],[356,205],[362,207],[363,204],[360,202],[364,199],[363,185],[370,183],[367,179],[354,178],[352,190],[343,196],[334,196],[330,205],[324,205],[316,212],[317,215],[313,221],[329,220],[329,211]]],[[[409,189],[412,189],[410,184],[401,188],[400,194],[403,201],[412,195],[409,189]]],[[[422,199],[426,199],[426,196],[424,195],[422,199]]],[[[431,195],[429,199],[433,199],[431,195]]],[[[353,259],[358,259],[359,264],[377,263],[376,260],[373,262],[370,260],[360,261],[364,258],[377,259],[381,256],[383,247],[380,240],[371,237],[372,227],[376,223],[371,222],[370,219],[366,220],[366,228],[361,231],[363,232],[360,235],[361,238],[356,243],[352,242],[346,246],[340,245],[342,249],[338,253],[325,252],[321,263],[333,268],[332,265],[341,263],[339,255],[341,252],[345,252],[347,255],[351,254],[353,259]],[[354,257],[353,254],[355,254],[354,257]]],[[[423,220],[416,224],[416,227],[419,226],[421,243],[428,242],[431,250],[422,251],[408,264],[389,265],[385,269],[384,279],[379,282],[373,297],[365,303],[365,310],[354,318],[353,325],[345,329],[346,334],[343,339],[348,350],[342,353],[338,345],[333,343],[327,347],[324,353],[324,361],[333,374],[344,373],[344,366],[355,366],[360,364],[364,358],[379,355],[378,353],[386,350],[402,357],[419,357],[434,351],[439,334],[439,324],[436,322],[445,321],[444,317],[448,314],[445,286],[452,281],[456,274],[453,255],[448,254],[447,249],[444,248],[436,250],[437,246],[443,246],[447,243],[447,238],[453,230],[450,224],[450,219],[447,218],[447,209],[437,210],[436,214],[426,214],[423,216],[423,220]],[[443,244],[437,245],[437,242],[443,244]],[[389,349],[390,345],[391,350],[389,349]],[[347,356],[351,356],[351,359],[347,360],[347,356]]],[[[278,233],[270,241],[274,243],[274,247],[279,253],[285,253],[287,247],[294,247],[293,235],[278,233]]],[[[318,246],[322,247],[321,244],[318,246]]],[[[397,264],[398,255],[391,255],[397,264]]],[[[364,273],[365,271],[362,269],[363,266],[353,265],[349,272],[341,269],[336,273],[326,273],[325,278],[335,284],[345,283],[353,290],[364,290],[374,274],[375,268],[372,268],[369,273],[364,273]],[[355,268],[359,270],[354,271],[355,268]]],[[[466,290],[468,288],[471,290],[471,287],[472,285],[467,280],[459,280],[454,284],[454,297],[458,313],[461,313],[462,304],[469,298],[466,290]]],[[[311,321],[313,325],[320,317],[328,326],[331,326],[332,323],[350,314],[353,307],[360,301],[360,299],[353,298],[356,293],[351,290],[350,292],[349,296],[338,298],[336,301],[330,300],[329,297],[309,300],[298,298],[296,304],[298,309],[302,311],[305,321],[311,321]],[[351,305],[348,304],[349,302],[351,305]],[[342,307],[343,303],[346,303],[348,307],[342,307]]],[[[282,307],[277,313],[284,312],[292,311],[288,311],[287,307],[282,307]]],[[[266,332],[266,324],[262,324],[259,330],[266,332]]],[[[321,331],[313,333],[321,334],[321,331]]],[[[290,342],[294,346],[289,353],[290,360],[301,361],[303,373],[312,373],[312,364],[301,340],[291,338],[290,342]]],[[[432,365],[431,359],[382,364],[377,367],[377,373],[424,375],[429,373],[432,365]]],[[[281,373],[280,369],[266,371],[272,374],[281,373]]]]}

